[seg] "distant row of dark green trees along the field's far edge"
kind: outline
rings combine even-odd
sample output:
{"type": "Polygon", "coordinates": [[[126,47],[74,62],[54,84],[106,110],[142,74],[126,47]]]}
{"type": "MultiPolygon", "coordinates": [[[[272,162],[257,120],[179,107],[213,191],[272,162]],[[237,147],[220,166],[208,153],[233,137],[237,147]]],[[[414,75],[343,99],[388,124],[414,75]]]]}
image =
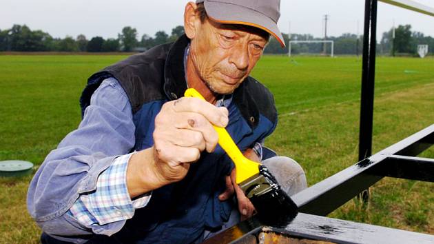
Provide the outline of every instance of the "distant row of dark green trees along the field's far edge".
{"type": "MultiPolygon", "coordinates": [[[[378,54],[416,54],[418,44],[427,44],[429,52],[434,52],[434,38],[426,37],[421,32],[413,32],[410,25],[398,26],[395,29],[395,39],[392,38],[393,30],[384,32],[382,39],[377,45],[378,54]]],[[[152,48],[154,45],[175,41],[184,34],[183,26],[176,26],[169,35],[161,30],[151,37],[147,34],[138,39],[136,28],[126,26],[118,33],[117,38],[104,39],[103,37],[92,37],[87,39],[85,35],[79,34],[76,38],[67,36],[63,39],[54,38],[42,30],[30,30],[28,26],[14,25],[7,30],[0,30],[0,52],[141,52],[152,48]]],[[[283,33],[285,43],[289,42],[289,35],[283,33]]],[[[322,40],[311,34],[291,34],[291,40],[322,40]]],[[[334,41],[335,54],[359,54],[362,52],[363,36],[345,33],[340,37],[328,37],[327,40],[334,41]]],[[[327,46],[330,52],[330,45],[327,46]]],[[[323,50],[322,44],[298,44],[291,46],[293,54],[320,53],[323,50]]],[[[265,53],[286,54],[286,48],[280,48],[276,39],[271,39],[265,53]]]]}

